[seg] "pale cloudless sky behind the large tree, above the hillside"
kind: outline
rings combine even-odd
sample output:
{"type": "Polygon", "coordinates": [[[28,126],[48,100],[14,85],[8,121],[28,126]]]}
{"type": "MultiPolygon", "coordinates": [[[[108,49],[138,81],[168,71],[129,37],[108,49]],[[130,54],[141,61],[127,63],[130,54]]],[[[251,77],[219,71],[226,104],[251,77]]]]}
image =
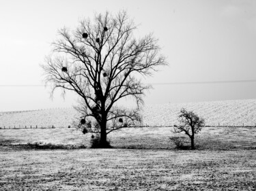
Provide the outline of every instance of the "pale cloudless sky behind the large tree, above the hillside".
{"type": "MultiPolygon", "coordinates": [[[[147,83],[256,80],[256,1],[0,1],[0,111],[70,107],[43,84],[44,56],[61,27],[126,10],[137,33],[153,32],[169,67],[147,83]]],[[[154,85],[146,104],[256,98],[256,82],[154,85]]]]}

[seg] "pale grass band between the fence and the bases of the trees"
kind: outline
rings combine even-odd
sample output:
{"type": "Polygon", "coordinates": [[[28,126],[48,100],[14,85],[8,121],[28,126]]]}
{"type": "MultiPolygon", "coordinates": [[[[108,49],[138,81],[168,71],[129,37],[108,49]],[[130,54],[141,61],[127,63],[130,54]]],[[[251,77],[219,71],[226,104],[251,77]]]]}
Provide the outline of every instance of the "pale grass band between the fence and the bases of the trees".
{"type": "MultiPolygon", "coordinates": [[[[172,127],[127,128],[109,134],[111,145],[115,148],[135,149],[173,149],[169,137],[184,134],[171,133],[172,127]]],[[[91,134],[83,135],[74,128],[43,129],[1,129],[1,145],[27,143],[51,143],[52,145],[89,146],[91,134]]],[[[256,148],[256,128],[251,127],[204,127],[196,135],[198,149],[254,149],[256,148]]],[[[187,139],[189,144],[189,139],[187,139]]]]}

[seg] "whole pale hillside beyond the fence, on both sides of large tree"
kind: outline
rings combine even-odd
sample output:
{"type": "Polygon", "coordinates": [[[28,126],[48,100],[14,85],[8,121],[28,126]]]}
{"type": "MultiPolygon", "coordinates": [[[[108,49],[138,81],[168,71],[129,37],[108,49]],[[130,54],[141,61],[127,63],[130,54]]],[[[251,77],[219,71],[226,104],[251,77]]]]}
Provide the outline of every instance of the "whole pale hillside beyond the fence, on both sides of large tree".
{"type": "MultiPolygon", "coordinates": [[[[145,105],[141,114],[143,124],[148,126],[172,126],[177,124],[177,116],[182,108],[195,111],[205,118],[208,126],[255,126],[256,99],[234,101],[210,101],[199,103],[167,103],[145,105]]],[[[0,127],[14,128],[68,127],[77,117],[73,108],[42,109],[35,111],[14,111],[0,113],[0,127]]]]}

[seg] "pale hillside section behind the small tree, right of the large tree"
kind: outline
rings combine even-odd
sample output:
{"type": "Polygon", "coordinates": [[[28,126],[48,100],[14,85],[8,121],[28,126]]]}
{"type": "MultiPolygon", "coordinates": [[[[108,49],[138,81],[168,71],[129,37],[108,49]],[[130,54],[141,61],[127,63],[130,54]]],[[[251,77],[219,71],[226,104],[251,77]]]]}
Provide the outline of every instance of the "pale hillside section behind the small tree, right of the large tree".
{"type": "Polygon", "coordinates": [[[195,111],[208,126],[255,126],[256,99],[146,105],[144,123],[149,126],[177,124],[180,109],[195,111]]]}

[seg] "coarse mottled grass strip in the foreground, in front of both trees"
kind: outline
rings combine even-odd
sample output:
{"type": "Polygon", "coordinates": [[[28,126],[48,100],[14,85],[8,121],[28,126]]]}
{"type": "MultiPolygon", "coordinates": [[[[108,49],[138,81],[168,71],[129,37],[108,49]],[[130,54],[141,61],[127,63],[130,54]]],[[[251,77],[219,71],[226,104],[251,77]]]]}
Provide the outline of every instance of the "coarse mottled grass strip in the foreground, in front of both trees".
{"type": "Polygon", "coordinates": [[[8,150],[0,190],[254,190],[255,150],[8,150]]]}

